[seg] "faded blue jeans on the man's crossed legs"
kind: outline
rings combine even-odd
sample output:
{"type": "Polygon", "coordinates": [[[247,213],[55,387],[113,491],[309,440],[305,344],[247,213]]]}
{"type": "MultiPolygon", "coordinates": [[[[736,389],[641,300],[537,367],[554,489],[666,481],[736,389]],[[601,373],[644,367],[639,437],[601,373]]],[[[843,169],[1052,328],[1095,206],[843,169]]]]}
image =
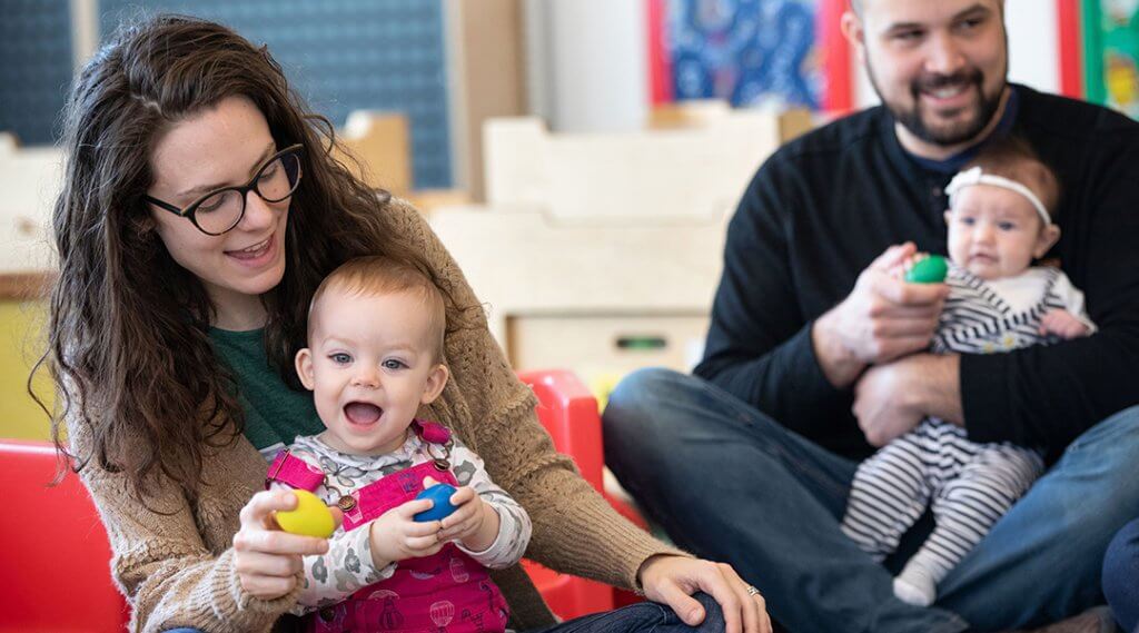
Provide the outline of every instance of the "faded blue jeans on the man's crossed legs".
{"type": "MultiPolygon", "coordinates": [[[[1104,551],[1139,516],[1131,408],[1076,438],[941,583],[936,605],[913,607],[839,529],[857,462],[663,369],[625,378],[604,422],[606,463],[648,516],[678,545],[735,566],[795,632],[997,631],[1070,617],[1103,601],[1104,551]]],[[[901,549],[923,539],[915,531],[901,549]]]]}

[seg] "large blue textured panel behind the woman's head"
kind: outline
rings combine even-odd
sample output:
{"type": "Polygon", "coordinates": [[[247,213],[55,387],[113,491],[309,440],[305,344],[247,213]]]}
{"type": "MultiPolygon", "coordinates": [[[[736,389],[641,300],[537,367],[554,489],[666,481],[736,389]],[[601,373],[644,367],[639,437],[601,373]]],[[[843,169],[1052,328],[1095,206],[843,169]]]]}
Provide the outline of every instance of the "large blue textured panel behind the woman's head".
{"type": "Polygon", "coordinates": [[[337,126],[357,109],[411,124],[417,188],[451,186],[442,0],[99,0],[106,40],[123,19],[178,13],[267,43],[313,110],[337,126]]]}

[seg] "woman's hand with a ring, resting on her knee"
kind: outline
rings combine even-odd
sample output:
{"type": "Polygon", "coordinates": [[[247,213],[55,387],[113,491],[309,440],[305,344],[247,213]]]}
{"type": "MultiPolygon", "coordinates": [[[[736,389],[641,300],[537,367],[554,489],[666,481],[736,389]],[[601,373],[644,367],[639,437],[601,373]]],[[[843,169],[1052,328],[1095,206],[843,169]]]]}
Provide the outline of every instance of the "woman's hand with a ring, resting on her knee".
{"type": "Polygon", "coordinates": [[[638,577],[646,598],[667,605],[689,626],[704,622],[704,608],[693,598],[694,593],[703,591],[720,603],[728,633],[771,633],[771,618],[763,597],[730,565],[680,556],[654,556],[641,565],[638,577]]]}

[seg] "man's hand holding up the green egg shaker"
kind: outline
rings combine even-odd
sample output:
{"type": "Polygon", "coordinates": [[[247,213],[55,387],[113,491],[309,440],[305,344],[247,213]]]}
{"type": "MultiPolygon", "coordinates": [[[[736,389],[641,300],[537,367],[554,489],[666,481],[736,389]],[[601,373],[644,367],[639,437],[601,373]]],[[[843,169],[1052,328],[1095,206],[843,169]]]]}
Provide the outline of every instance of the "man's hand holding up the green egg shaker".
{"type": "Polygon", "coordinates": [[[869,364],[929,346],[949,287],[900,278],[898,271],[916,252],[912,242],[887,248],[859,274],[851,294],[814,322],[816,355],[835,387],[852,385],[869,364]]]}

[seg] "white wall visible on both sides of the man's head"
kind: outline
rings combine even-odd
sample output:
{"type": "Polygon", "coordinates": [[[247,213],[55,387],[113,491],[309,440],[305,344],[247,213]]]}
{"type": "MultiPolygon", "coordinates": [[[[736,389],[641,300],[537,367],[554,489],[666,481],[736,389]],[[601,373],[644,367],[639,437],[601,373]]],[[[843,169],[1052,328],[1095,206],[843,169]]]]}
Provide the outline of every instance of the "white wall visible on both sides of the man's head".
{"type": "MultiPolygon", "coordinates": [[[[1008,25],[1009,81],[1044,92],[1059,92],[1059,30],[1056,3],[1050,0],[1005,0],[1008,25]]],[[[857,108],[878,102],[866,72],[852,55],[857,108]]]]}

